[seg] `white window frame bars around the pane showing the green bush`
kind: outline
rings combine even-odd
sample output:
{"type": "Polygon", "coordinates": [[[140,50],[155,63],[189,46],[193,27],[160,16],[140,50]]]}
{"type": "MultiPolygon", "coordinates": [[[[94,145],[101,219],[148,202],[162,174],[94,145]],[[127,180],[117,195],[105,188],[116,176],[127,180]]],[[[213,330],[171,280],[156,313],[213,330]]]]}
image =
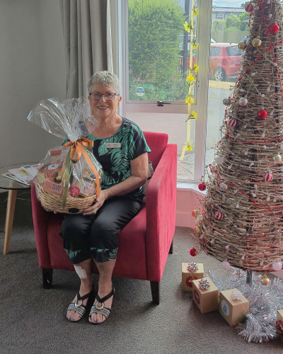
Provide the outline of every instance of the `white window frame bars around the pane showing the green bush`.
{"type": "MultiPolygon", "coordinates": [[[[193,1],[193,0],[192,0],[193,1]]],[[[122,78],[122,97],[120,114],[127,116],[127,113],[175,113],[186,114],[187,104],[185,102],[172,102],[170,105],[158,107],[156,101],[127,101],[128,88],[128,50],[127,50],[127,0],[118,0],[118,72],[122,78]]],[[[195,103],[192,109],[197,112],[195,122],[195,176],[193,180],[178,181],[182,188],[191,183],[199,183],[204,175],[206,126],[207,126],[207,100],[209,87],[209,50],[211,38],[212,21],[212,0],[198,0],[197,8],[202,16],[197,18],[196,35],[199,47],[196,50],[196,62],[200,68],[197,77],[197,90],[195,103]],[[199,52],[202,55],[199,55],[199,52]]],[[[184,129],[186,126],[184,125],[184,129]]]]}

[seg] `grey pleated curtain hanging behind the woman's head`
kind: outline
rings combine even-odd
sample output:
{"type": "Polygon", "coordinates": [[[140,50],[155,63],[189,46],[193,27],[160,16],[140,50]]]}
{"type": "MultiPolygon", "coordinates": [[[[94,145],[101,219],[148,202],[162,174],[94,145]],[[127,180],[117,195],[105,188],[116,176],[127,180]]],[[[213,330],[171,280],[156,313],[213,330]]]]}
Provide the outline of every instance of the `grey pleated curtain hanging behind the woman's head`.
{"type": "Polygon", "coordinates": [[[99,70],[112,72],[110,0],[60,0],[67,68],[66,98],[88,96],[99,70]]]}

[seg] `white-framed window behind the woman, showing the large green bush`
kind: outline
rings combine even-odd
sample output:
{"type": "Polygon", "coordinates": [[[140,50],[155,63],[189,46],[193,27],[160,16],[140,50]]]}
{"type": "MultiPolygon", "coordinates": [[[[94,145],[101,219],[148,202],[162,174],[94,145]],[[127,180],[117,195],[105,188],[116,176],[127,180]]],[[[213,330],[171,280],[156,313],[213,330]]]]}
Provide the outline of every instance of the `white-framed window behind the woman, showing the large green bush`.
{"type": "Polygon", "coordinates": [[[192,1],[120,1],[120,77],[125,78],[120,114],[137,122],[142,130],[168,133],[169,142],[178,145],[178,181],[184,182],[199,181],[204,171],[209,42],[214,42],[207,26],[212,1],[209,11],[207,0],[194,1],[202,16],[195,17],[192,41],[199,47],[190,50],[191,38],[183,27],[189,20],[187,13],[191,13],[188,4],[192,1]],[[187,124],[184,79],[190,59],[200,67],[192,103],[198,118],[187,124]],[[158,101],[163,102],[158,105],[158,101]],[[188,140],[192,151],[184,150],[188,140]]]}

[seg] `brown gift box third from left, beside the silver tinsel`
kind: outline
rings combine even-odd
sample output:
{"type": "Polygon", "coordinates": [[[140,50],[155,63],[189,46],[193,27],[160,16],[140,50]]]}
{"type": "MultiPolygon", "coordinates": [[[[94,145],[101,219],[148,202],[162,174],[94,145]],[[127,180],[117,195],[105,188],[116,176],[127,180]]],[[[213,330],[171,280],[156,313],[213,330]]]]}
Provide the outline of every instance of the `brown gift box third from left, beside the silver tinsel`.
{"type": "Polygon", "coordinates": [[[230,326],[243,323],[249,309],[249,301],[238,289],[224,290],[219,295],[219,312],[230,326]]]}

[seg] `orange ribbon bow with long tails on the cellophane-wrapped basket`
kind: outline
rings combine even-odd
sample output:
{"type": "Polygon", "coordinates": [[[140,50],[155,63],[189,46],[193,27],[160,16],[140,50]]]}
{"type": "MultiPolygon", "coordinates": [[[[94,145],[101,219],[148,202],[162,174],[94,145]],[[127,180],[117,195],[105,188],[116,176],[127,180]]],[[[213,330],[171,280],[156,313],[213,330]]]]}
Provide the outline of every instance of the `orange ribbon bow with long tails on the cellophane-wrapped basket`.
{"type": "Polygon", "coordinates": [[[91,161],[88,156],[88,153],[86,152],[86,149],[88,149],[89,151],[93,149],[93,141],[90,139],[86,139],[86,137],[80,137],[79,139],[76,139],[75,142],[67,142],[66,144],[64,144],[64,147],[70,147],[70,149],[66,157],[65,188],[63,193],[62,207],[65,207],[67,200],[71,161],[76,164],[76,162],[81,159],[81,154],[83,154],[84,158],[86,159],[86,162],[88,163],[88,166],[91,167],[94,175],[96,176],[96,197],[98,198],[100,193],[98,171],[96,170],[96,166],[93,165],[93,162],[91,161]]]}

